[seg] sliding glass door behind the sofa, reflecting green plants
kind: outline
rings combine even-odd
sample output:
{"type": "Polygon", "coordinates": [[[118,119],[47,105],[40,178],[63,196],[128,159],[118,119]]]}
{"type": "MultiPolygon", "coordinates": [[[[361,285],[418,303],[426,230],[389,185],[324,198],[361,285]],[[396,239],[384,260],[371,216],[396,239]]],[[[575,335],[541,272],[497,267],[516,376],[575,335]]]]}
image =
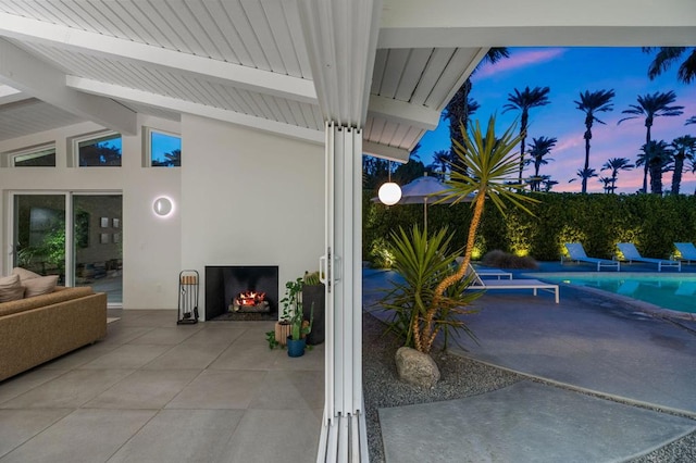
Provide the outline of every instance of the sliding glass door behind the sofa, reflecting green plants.
{"type": "Polygon", "coordinates": [[[14,195],[13,265],[59,284],[107,292],[123,302],[122,196],[113,193],[14,195]]]}

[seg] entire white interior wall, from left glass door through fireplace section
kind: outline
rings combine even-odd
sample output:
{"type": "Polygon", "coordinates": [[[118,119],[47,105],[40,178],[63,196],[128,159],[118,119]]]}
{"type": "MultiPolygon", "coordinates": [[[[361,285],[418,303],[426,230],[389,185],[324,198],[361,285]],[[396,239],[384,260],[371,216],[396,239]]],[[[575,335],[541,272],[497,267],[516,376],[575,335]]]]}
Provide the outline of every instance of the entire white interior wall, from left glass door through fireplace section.
{"type": "MultiPolygon", "coordinates": [[[[115,191],[123,195],[123,306],[176,309],[178,273],[206,265],[278,265],[285,281],[318,268],[324,246],[322,146],[183,116],[140,117],[142,126],[182,135],[181,168],[142,167],[142,136],[123,137],[121,168],[67,167],[67,138],[102,127],[77,124],[0,142],[0,153],[55,141],[57,167],[0,168],[3,274],[11,270],[10,191],[115,191]],[[152,212],[174,200],[167,218],[152,212]]],[[[204,308],[204,281],[200,313],[204,308]]]]}

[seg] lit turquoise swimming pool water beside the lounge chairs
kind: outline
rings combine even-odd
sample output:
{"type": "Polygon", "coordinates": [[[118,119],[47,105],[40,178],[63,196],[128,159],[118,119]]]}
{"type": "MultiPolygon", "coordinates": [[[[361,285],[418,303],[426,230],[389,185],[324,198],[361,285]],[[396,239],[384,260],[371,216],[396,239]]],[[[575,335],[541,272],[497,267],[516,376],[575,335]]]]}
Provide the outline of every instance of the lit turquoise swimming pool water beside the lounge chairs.
{"type": "Polygon", "coordinates": [[[694,274],[687,276],[567,272],[537,273],[533,276],[551,283],[596,288],[678,312],[696,313],[696,275],[694,274]]]}

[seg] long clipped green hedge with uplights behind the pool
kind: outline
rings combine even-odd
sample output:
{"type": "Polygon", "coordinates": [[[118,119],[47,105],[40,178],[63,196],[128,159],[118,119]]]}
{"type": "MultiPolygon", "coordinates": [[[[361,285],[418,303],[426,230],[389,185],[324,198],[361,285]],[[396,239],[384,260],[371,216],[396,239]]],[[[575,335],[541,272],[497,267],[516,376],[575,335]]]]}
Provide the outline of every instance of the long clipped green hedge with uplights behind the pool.
{"type": "MultiPolygon", "coordinates": [[[[504,217],[486,203],[474,258],[501,250],[555,261],[563,243],[582,242],[588,255],[611,259],[617,242],[631,241],[643,255],[668,259],[674,242],[696,242],[696,197],[655,195],[530,193],[540,202],[531,208],[534,215],[509,207],[504,217]]],[[[463,248],[471,204],[428,205],[427,228],[444,226],[455,234],[453,246],[463,248]]],[[[393,230],[423,227],[423,205],[385,207],[363,201],[363,259],[385,265],[376,255],[384,253],[393,230]]]]}

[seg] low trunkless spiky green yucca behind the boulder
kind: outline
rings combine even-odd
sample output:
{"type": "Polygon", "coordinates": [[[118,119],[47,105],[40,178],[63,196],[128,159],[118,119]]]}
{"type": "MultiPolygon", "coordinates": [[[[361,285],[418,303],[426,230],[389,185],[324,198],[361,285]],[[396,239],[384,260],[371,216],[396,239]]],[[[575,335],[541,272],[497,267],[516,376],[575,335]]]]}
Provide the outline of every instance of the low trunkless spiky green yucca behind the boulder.
{"type": "MultiPolygon", "coordinates": [[[[421,232],[415,225],[410,233],[399,228],[391,233],[394,270],[402,281],[394,284],[391,290],[382,299],[380,306],[390,313],[387,331],[394,331],[405,339],[405,346],[414,347],[413,326],[425,318],[435,296],[435,287],[456,270],[455,260],[461,255],[461,249],[451,250],[452,234],[443,228],[432,236],[421,232]]],[[[472,339],[475,336],[459,315],[473,313],[467,309],[480,292],[464,292],[469,281],[461,280],[450,287],[439,301],[434,314],[434,325],[449,339],[450,331],[464,331],[472,339]]],[[[447,345],[445,345],[445,348],[447,345]]]]}

